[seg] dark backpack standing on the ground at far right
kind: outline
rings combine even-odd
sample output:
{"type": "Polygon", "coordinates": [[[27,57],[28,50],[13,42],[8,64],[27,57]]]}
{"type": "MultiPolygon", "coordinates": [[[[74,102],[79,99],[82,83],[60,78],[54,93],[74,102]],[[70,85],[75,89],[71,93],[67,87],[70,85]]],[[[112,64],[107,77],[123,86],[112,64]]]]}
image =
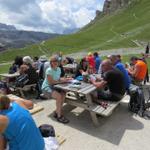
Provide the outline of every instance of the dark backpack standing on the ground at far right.
{"type": "Polygon", "coordinates": [[[145,114],[145,98],[140,87],[132,85],[129,89],[130,101],[128,108],[131,112],[144,117],[145,114]]]}

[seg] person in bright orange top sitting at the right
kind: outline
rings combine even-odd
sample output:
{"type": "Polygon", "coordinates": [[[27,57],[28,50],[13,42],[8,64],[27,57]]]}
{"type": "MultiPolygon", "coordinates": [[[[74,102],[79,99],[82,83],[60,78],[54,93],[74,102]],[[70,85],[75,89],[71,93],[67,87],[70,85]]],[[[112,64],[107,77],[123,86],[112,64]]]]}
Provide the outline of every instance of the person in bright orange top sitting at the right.
{"type": "Polygon", "coordinates": [[[130,61],[132,67],[128,68],[128,73],[132,78],[132,82],[138,84],[144,81],[147,72],[146,63],[135,56],[131,57],[130,61]]]}

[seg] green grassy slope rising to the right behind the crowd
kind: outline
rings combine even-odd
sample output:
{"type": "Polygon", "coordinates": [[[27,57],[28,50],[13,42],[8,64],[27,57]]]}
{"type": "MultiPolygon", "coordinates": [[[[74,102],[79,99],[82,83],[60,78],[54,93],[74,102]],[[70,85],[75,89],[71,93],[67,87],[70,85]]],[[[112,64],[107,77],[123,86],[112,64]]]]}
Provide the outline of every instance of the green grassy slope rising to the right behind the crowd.
{"type": "Polygon", "coordinates": [[[16,55],[51,55],[55,51],[73,53],[85,50],[135,47],[133,40],[150,39],[150,0],[136,0],[124,11],[97,19],[80,32],[58,37],[44,44],[27,46],[0,55],[0,61],[12,60],[16,55]],[[41,48],[40,48],[41,47],[41,48]],[[42,49],[44,52],[42,52],[42,49]]]}

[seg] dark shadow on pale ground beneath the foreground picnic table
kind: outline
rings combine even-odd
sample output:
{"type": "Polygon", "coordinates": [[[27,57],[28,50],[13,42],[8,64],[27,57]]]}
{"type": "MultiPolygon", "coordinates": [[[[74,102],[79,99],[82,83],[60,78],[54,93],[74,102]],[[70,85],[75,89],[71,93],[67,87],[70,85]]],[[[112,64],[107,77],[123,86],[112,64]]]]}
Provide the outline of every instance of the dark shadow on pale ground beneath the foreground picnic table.
{"type": "MultiPolygon", "coordinates": [[[[90,113],[83,111],[81,108],[66,105],[64,106],[64,113],[70,119],[67,126],[115,145],[119,145],[127,130],[144,128],[143,123],[136,120],[136,117],[133,117],[133,114],[128,111],[127,103],[121,103],[110,117],[99,117],[100,125],[98,127],[94,126],[90,113]]],[[[50,114],[49,117],[54,119],[53,114],[50,114]]]]}

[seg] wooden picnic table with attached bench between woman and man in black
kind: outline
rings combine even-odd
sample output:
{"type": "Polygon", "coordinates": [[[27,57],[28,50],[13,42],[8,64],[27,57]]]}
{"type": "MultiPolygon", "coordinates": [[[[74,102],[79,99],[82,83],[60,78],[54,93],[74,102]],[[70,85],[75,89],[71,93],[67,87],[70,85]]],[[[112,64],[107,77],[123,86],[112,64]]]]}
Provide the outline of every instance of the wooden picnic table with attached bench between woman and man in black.
{"type": "Polygon", "coordinates": [[[55,88],[65,92],[65,102],[69,105],[81,107],[90,112],[93,123],[99,125],[97,114],[109,116],[120,102],[107,102],[107,108],[100,104],[96,104],[92,100],[92,93],[97,89],[93,84],[80,82],[80,84],[63,83],[54,85],[55,88]]]}

